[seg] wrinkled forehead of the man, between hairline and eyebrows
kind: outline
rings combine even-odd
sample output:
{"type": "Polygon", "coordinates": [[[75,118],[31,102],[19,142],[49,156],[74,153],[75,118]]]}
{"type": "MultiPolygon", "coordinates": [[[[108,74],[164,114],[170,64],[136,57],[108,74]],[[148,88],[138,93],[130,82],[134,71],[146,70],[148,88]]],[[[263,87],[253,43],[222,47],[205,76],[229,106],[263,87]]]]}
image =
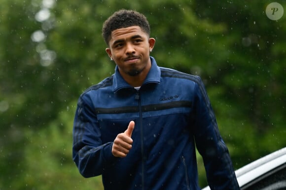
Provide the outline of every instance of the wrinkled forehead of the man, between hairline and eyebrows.
{"type": "Polygon", "coordinates": [[[142,37],[146,37],[147,34],[143,32],[141,27],[133,26],[133,27],[124,27],[118,28],[111,32],[111,41],[118,40],[118,39],[126,39],[130,38],[135,35],[140,35],[142,37]]]}

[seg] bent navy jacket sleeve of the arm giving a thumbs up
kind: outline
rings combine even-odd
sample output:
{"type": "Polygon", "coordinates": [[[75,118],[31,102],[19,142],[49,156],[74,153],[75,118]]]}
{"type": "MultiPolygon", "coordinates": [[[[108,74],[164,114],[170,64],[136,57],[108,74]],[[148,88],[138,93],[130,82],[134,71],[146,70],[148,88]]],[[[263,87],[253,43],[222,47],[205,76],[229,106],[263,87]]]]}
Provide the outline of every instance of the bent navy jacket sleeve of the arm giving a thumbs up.
{"type": "Polygon", "coordinates": [[[78,100],[72,135],[72,158],[83,177],[101,175],[116,161],[111,153],[113,142],[102,144],[95,109],[86,94],[78,100]]]}

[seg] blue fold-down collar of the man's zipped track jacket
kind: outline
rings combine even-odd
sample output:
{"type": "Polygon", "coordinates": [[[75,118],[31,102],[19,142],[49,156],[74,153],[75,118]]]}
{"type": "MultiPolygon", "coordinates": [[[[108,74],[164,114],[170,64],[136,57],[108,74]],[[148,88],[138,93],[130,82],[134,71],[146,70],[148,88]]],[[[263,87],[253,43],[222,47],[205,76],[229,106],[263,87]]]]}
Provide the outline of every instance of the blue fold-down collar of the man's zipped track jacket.
{"type": "MultiPolygon", "coordinates": [[[[147,83],[160,83],[161,71],[157,66],[157,63],[153,57],[150,56],[151,59],[151,68],[149,73],[146,76],[142,85],[147,83]]],[[[116,92],[122,88],[133,88],[133,86],[129,85],[120,75],[118,66],[115,67],[115,73],[113,75],[113,91],[116,92]]]]}

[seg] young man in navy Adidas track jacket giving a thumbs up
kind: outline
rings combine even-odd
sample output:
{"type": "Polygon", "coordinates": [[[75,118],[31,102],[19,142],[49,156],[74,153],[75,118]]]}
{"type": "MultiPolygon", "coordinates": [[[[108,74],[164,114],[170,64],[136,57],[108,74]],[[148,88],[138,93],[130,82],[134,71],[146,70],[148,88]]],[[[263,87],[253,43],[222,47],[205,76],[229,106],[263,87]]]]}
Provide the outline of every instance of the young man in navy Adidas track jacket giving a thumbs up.
{"type": "Polygon", "coordinates": [[[209,185],[238,190],[201,79],[158,67],[144,15],[120,10],[103,25],[115,73],[79,98],[73,160],[106,190],[199,190],[195,144],[209,185]]]}

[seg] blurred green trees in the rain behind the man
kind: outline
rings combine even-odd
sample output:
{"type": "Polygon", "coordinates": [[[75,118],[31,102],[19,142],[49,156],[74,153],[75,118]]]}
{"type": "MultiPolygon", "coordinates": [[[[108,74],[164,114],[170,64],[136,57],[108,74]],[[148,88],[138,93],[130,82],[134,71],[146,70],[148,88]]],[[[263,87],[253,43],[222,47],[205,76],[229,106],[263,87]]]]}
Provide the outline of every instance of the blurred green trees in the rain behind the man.
{"type": "Polygon", "coordinates": [[[235,169],[285,147],[286,16],[268,19],[271,2],[1,0],[0,189],[103,189],[72,161],[72,123],[114,72],[101,29],[120,8],[146,15],[158,65],[201,76],[235,169]]]}

